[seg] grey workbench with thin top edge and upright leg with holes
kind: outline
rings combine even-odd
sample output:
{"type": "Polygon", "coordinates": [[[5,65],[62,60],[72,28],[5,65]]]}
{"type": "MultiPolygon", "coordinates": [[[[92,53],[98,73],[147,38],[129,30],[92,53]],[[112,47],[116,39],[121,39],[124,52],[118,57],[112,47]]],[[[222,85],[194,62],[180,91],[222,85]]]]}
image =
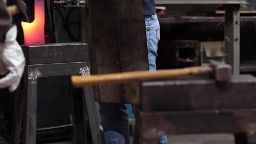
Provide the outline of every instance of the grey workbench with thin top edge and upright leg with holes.
{"type": "Polygon", "coordinates": [[[223,4],[225,7],[225,61],[240,74],[240,4],[246,0],[156,0],[156,4],[223,4]]]}

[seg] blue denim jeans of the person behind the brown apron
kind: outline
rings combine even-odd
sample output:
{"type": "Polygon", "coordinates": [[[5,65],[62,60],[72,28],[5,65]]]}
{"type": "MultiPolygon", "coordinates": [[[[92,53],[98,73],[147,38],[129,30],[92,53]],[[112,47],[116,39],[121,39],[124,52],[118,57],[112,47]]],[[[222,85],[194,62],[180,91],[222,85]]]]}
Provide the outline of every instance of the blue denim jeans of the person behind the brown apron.
{"type": "MultiPolygon", "coordinates": [[[[160,40],[160,26],[156,15],[146,16],[147,47],[149,58],[149,70],[155,71],[155,58],[158,55],[158,42],[160,40]]],[[[125,104],[101,103],[102,127],[106,144],[129,144],[129,121],[125,104]]],[[[167,144],[167,137],[162,136],[161,144],[167,144]]]]}

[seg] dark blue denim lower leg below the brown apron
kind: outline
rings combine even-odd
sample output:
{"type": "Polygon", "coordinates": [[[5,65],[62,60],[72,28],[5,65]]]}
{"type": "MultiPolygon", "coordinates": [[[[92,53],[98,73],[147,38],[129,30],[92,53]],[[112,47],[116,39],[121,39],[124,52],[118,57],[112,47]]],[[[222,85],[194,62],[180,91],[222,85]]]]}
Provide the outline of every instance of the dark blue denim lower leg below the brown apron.
{"type": "Polygon", "coordinates": [[[129,144],[129,121],[125,104],[101,103],[101,124],[106,144],[129,144]]]}

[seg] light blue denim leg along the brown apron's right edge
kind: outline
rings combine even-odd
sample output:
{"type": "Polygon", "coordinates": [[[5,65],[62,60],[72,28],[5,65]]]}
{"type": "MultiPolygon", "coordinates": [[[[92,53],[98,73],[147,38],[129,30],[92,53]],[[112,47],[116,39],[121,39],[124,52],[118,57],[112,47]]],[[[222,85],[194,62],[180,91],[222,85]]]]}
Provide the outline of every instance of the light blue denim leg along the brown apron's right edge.
{"type": "MultiPolygon", "coordinates": [[[[160,25],[157,15],[145,17],[146,33],[147,33],[147,47],[148,47],[148,61],[149,71],[156,70],[155,59],[158,56],[158,42],[160,40],[160,25]]],[[[164,135],[160,139],[161,144],[167,144],[167,136],[164,135]]]]}

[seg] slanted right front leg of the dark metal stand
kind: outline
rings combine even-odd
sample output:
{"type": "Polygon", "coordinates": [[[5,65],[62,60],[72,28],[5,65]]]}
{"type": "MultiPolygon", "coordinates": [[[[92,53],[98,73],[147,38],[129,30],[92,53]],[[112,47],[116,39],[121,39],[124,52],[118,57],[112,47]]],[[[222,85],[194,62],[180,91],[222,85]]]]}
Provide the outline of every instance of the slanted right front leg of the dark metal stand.
{"type": "Polygon", "coordinates": [[[102,144],[100,124],[98,122],[98,115],[94,100],[94,92],[92,86],[85,86],[84,89],[84,100],[88,111],[89,123],[91,128],[92,142],[94,144],[102,144]]]}

